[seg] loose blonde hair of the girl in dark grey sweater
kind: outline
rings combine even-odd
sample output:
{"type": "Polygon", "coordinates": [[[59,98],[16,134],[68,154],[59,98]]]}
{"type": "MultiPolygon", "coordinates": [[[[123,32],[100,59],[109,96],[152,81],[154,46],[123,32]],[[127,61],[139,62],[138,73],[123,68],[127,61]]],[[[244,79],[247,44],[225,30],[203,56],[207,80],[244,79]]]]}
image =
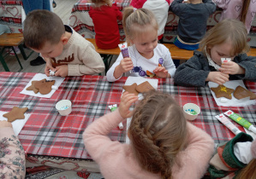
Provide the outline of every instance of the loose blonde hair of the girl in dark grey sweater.
{"type": "MultiPolygon", "coordinates": [[[[231,41],[233,48],[230,55],[247,53],[247,29],[240,20],[222,20],[213,26],[200,42],[200,49],[204,52],[209,46],[231,41]]],[[[207,51],[209,54],[209,51],[207,51]]]]}

